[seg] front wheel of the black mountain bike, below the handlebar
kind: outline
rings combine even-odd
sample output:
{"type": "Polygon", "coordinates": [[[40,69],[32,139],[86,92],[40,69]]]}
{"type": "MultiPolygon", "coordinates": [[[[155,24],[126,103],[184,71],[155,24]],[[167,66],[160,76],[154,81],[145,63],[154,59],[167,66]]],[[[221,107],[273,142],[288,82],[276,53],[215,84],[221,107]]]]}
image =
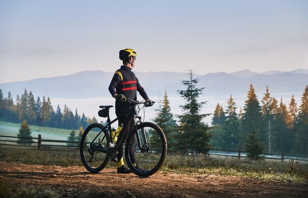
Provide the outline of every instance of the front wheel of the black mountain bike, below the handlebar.
{"type": "Polygon", "coordinates": [[[154,123],[144,122],[138,124],[137,133],[129,134],[125,143],[125,159],[128,167],[139,176],[150,176],[163,165],[167,154],[167,141],[165,134],[154,123]],[[133,153],[135,152],[135,160],[133,153]],[[144,170],[138,170],[134,165],[140,165],[144,170]]]}

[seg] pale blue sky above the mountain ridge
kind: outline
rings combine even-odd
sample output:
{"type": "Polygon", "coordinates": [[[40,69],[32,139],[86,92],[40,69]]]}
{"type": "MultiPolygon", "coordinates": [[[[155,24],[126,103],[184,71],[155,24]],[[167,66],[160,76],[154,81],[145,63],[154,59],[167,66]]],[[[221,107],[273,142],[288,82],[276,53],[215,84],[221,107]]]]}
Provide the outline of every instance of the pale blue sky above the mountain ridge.
{"type": "Polygon", "coordinates": [[[0,83],[134,70],[308,69],[308,0],[1,0],[0,83]]]}

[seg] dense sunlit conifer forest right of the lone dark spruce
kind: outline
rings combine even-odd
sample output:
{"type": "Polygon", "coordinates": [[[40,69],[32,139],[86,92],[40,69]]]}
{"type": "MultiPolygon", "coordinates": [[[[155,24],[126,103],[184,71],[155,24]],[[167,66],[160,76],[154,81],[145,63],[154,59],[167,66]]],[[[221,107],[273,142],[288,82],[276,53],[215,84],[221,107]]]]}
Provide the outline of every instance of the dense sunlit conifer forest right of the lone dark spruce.
{"type": "Polygon", "coordinates": [[[236,113],[236,103],[230,95],[226,110],[217,104],[210,133],[211,144],[220,149],[246,150],[252,158],[260,153],[308,154],[308,85],[301,105],[292,95],[288,105],[272,97],[269,87],[260,104],[252,85],[247,93],[244,111],[236,113]]]}

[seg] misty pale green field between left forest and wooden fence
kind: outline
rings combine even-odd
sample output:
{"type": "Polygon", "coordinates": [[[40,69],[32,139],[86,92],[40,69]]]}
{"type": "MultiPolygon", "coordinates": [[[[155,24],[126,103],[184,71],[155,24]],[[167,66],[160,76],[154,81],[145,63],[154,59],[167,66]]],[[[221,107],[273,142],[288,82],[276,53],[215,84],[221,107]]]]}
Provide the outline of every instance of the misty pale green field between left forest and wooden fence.
{"type": "MultiPolygon", "coordinates": [[[[20,124],[0,121],[0,135],[2,136],[17,137],[19,129],[20,129],[20,124]]],[[[38,134],[41,134],[42,139],[48,139],[48,140],[67,140],[67,137],[72,131],[67,129],[57,129],[57,128],[39,127],[39,126],[30,126],[30,130],[32,131],[31,136],[33,138],[37,138],[38,134]]],[[[75,130],[75,132],[76,135],[78,135],[78,130],[75,130]]]]}

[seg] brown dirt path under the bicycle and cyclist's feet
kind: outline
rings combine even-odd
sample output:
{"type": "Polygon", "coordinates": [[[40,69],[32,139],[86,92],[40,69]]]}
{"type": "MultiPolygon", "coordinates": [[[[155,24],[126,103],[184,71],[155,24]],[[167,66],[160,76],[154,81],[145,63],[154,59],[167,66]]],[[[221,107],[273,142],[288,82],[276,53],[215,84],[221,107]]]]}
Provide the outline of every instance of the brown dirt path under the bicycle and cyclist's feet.
{"type": "Polygon", "coordinates": [[[0,162],[0,181],[55,189],[62,197],[308,197],[308,185],[218,174],[158,171],[151,177],[90,173],[80,166],[59,167],[0,162]]]}

